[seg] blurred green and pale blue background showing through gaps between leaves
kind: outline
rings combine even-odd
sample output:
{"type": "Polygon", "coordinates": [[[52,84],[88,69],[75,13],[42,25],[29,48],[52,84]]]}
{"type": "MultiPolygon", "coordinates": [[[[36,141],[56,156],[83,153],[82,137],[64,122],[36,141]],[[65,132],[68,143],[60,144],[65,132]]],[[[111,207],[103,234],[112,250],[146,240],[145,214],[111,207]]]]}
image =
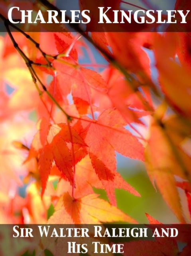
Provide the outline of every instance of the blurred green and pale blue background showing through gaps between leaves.
{"type": "MultiPolygon", "coordinates": [[[[66,8],[69,10],[73,9],[73,6],[77,6],[77,0],[71,0],[71,1],[57,1],[57,6],[60,9],[65,10],[66,8]],[[67,2],[67,3],[66,3],[67,2]],[[67,6],[66,6],[67,4],[67,6]]],[[[123,1],[123,4],[125,5],[126,0],[123,1]]],[[[128,1],[129,3],[132,3],[137,6],[141,6],[143,8],[148,8],[148,6],[152,6],[153,10],[162,10],[165,9],[172,9],[175,4],[175,0],[171,1],[158,1],[158,0],[151,0],[151,1],[135,1],[131,0],[128,1]]],[[[135,7],[136,8],[136,7],[135,7]]],[[[130,9],[134,10],[134,7],[130,6],[130,9]]],[[[5,33],[2,33],[2,36],[5,36],[5,33]]],[[[87,43],[88,44],[88,43],[87,43]]],[[[93,48],[93,46],[89,45],[89,48],[91,52],[94,55],[95,61],[98,64],[106,64],[106,60],[102,58],[102,56],[93,48]]],[[[151,67],[152,67],[152,77],[153,80],[156,82],[156,69],[155,69],[155,63],[153,60],[152,52],[150,50],[147,50],[148,55],[150,56],[151,60],[151,67]]],[[[87,51],[83,51],[83,54],[79,58],[79,63],[90,63],[91,60],[89,59],[89,56],[87,54],[87,51]]],[[[102,68],[98,68],[98,71],[102,71],[102,68]]],[[[12,93],[12,88],[7,86],[7,92],[8,94],[12,93]]],[[[30,119],[32,121],[37,121],[35,112],[32,111],[30,113],[30,119]]],[[[149,122],[149,120],[146,120],[149,122]]],[[[143,131],[144,132],[144,131],[143,131]]],[[[162,223],[176,223],[177,218],[174,216],[174,214],[171,212],[169,207],[166,205],[164,200],[161,197],[161,194],[156,190],[152,183],[150,182],[146,169],[144,166],[144,163],[138,161],[138,160],[132,160],[129,158],[126,158],[120,154],[117,154],[117,171],[120,172],[122,177],[131,185],[133,186],[140,194],[141,197],[136,197],[129,192],[126,192],[124,190],[118,190],[116,189],[116,198],[117,198],[117,206],[122,211],[126,212],[133,218],[135,218],[140,223],[148,223],[148,220],[146,218],[146,215],[144,212],[150,214],[159,222],[162,223]]],[[[21,177],[22,178],[22,177],[21,177]]],[[[23,186],[19,188],[20,196],[25,196],[25,189],[26,186],[23,186]]],[[[95,192],[98,192],[101,194],[101,197],[107,200],[106,193],[103,190],[95,189],[95,192]]],[[[184,198],[183,198],[184,199],[184,198]]],[[[51,214],[51,212],[50,212],[51,214]]]]}

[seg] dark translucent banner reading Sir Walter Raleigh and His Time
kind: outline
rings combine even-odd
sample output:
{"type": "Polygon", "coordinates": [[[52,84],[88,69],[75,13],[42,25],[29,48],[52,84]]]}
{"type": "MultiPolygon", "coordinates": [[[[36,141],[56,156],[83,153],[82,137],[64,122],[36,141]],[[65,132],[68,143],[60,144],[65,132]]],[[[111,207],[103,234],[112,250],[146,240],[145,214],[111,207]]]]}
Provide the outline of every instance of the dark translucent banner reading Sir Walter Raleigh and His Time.
{"type": "Polygon", "coordinates": [[[189,256],[191,225],[1,225],[1,256],[189,256]]]}

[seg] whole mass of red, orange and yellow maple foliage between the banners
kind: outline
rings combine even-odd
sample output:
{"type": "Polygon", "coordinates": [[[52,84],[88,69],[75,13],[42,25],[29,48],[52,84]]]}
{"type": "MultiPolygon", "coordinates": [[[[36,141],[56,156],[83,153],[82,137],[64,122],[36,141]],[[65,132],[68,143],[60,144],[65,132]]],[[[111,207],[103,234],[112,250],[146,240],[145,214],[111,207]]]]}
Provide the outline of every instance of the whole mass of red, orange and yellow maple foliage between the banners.
{"type": "MultiPolygon", "coordinates": [[[[175,8],[183,10],[180,2],[175,8]]],[[[120,1],[112,3],[120,8],[120,1]]],[[[93,8],[82,0],[80,6],[93,8]]],[[[79,34],[29,34],[46,55],[23,34],[12,33],[24,54],[38,63],[33,68],[40,95],[10,35],[0,38],[0,222],[46,223],[51,204],[56,211],[49,223],[136,222],[116,207],[115,188],[140,194],[116,172],[115,152],[145,161],[150,180],[178,220],[189,221],[178,187],[185,190],[190,211],[190,34],[92,33],[104,65],[96,63],[79,34]],[[37,115],[36,130],[31,113],[37,115]],[[27,184],[25,198],[17,191],[19,177],[27,184]],[[93,187],[104,189],[110,203],[93,187]]]]}

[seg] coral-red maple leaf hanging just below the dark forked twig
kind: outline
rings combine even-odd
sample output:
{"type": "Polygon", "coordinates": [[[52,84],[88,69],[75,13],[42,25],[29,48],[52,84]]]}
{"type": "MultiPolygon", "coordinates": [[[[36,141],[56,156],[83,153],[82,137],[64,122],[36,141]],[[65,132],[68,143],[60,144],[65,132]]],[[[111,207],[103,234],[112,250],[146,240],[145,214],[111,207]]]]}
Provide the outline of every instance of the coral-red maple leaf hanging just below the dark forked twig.
{"type": "Polygon", "coordinates": [[[58,70],[57,80],[63,94],[67,96],[72,90],[77,110],[80,114],[87,114],[87,109],[91,105],[91,88],[106,92],[106,82],[94,70],[81,68],[75,62],[67,65],[54,61],[53,64],[58,70]]]}

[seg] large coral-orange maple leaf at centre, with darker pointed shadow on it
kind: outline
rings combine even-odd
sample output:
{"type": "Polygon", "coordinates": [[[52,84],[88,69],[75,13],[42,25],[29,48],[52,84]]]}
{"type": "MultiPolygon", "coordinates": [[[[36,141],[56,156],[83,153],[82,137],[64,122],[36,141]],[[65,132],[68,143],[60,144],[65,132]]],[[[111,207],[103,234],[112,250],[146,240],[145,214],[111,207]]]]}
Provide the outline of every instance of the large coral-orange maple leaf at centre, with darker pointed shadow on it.
{"type": "Polygon", "coordinates": [[[75,129],[79,129],[79,134],[89,146],[92,165],[113,204],[116,204],[114,199],[116,176],[114,150],[130,158],[144,159],[142,144],[122,127],[125,124],[124,119],[116,110],[106,110],[96,121],[86,118],[86,120],[81,120],[81,125],[79,122],[75,125],[75,129]]]}

